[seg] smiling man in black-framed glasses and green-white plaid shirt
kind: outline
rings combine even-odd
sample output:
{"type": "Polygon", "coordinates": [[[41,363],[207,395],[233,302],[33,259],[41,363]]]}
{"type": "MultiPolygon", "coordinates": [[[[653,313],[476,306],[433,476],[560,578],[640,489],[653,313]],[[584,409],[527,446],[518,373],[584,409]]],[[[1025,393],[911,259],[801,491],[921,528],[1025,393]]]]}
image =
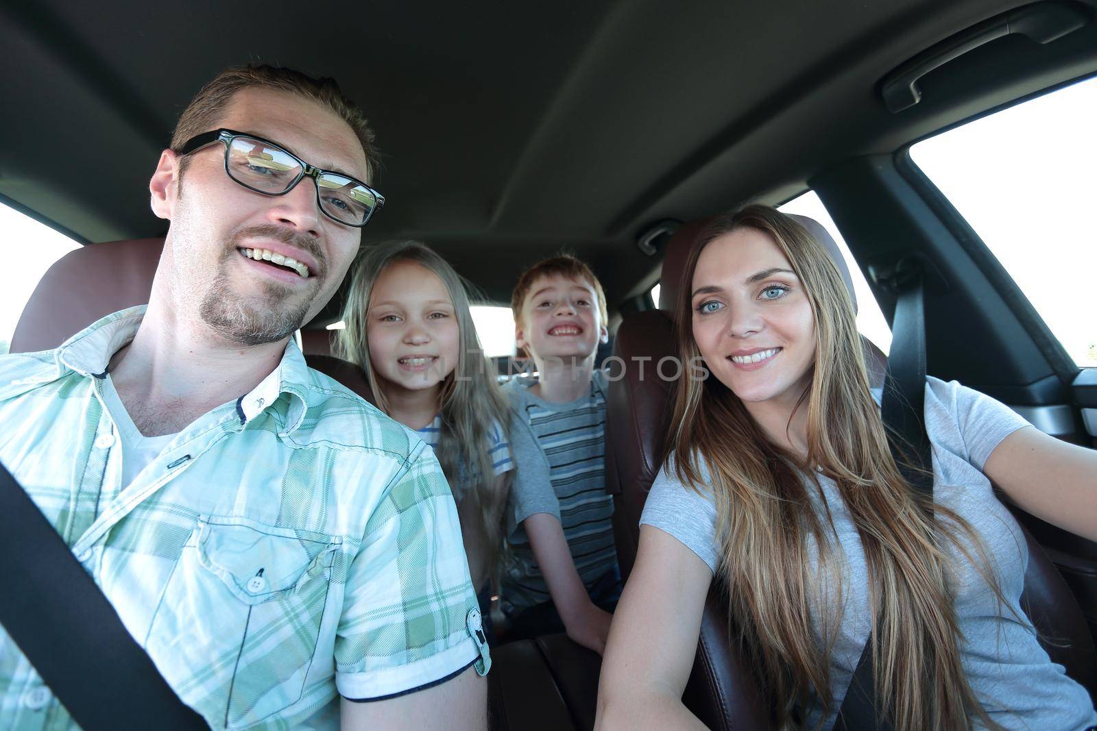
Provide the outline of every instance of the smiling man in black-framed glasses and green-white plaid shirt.
{"type": "MultiPolygon", "coordinates": [[[[486,726],[433,453],[291,340],[383,204],[374,158],[333,81],[222,73],[149,184],[170,227],[147,308],[0,358],[0,461],[214,728],[486,726]]],[[[0,632],[0,728],[71,726],[0,632]]]]}

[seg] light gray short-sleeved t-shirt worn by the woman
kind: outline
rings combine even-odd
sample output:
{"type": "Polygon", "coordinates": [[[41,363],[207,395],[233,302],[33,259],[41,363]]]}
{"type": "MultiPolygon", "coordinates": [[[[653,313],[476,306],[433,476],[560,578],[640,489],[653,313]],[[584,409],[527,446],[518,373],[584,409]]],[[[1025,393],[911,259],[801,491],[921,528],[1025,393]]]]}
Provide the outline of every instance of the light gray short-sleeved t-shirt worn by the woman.
{"type": "MultiPolygon", "coordinates": [[[[995,562],[1008,608],[999,607],[994,593],[974,567],[958,559],[957,618],[963,643],[963,664],[983,707],[1006,729],[1085,729],[1097,723],[1086,690],[1052,663],[1024,617],[1020,595],[1028,566],[1025,537],[1009,511],[994,496],[983,464],[996,446],[1028,425],[1008,407],[955,381],[927,378],[926,431],[932,445],[934,501],[964,517],[984,541],[995,562]]],[[[834,724],[853,669],[868,639],[868,570],[857,528],[829,478],[818,476],[837,532],[837,547],[845,557],[841,624],[830,658],[834,703],[823,728],[834,724]],[[850,592],[849,587],[855,591],[850,592]],[[860,591],[857,591],[860,589],[860,591]]],[[[817,507],[821,507],[817,505],[817,507]]],[[[716,512],[710,494],[699,494],[664,469],[652,486],[641,523],[653,525],[680,540],[715,574],[719,546],[716,512]]],[[[813,605],[819,601],[813,595],[813,605]]],[[[833,610],[833,609],[828,609],[833,610]]],[[[813,614],[814,612],[813,606],[813,614]]],[[[821,639],[821,638],[819,638],[821,639]]],[[[806,710],[808,728],[822,717],[813,699],[806,710]]]]}

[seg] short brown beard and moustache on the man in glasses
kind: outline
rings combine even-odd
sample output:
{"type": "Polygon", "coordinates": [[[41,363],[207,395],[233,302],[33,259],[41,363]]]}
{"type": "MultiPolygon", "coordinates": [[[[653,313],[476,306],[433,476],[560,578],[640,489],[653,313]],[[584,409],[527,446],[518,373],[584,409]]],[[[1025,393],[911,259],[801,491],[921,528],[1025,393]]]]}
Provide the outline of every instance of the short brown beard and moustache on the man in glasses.
{"type": "Polygon", "coordinates": [[[289,338],[298,330],[305,322],[305,316],[308,315],[312,298],[297,305],[286,305],[285,302],[298,293],[299,287],[271,281],[263,282],[263,294],[260,296],[244,297],[233,292],[225,264],[230,256],[241,255],[237,251],[238,241],[249,236],[278,239],[312,253],[320,269],[319,272],[309,273],[309,278],[315,278],[316,282],[314,288],[319,287],[319,283],[327,274],[327,266],[319,247],[312,241],[302,241],[301,238],[280,227],[255,226],[237,231],[233,236],[230,245],[217,262],[217,276],[206,287],[202,297],[199,316],[225,340],[241,345],[262,345],[289,338]]]}

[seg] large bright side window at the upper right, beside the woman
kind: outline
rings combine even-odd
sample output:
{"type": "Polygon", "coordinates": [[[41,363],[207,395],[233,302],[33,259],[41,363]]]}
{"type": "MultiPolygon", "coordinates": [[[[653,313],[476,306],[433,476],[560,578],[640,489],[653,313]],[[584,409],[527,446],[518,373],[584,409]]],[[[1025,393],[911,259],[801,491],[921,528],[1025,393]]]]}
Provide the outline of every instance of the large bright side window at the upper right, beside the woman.
{"type": "Polygon", "coordinates": [[[1089,79],[911,148],[1082,367],[1097,366],[1094,119],[1089,79]]]}

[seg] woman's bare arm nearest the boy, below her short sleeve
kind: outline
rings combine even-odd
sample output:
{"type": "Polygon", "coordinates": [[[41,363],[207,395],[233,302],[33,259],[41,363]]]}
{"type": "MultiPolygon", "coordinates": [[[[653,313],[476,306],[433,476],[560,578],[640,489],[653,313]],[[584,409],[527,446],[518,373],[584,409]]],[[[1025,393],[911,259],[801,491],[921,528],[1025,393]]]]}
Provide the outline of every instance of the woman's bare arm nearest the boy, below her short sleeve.
{"type": "Polygon", "coordinates": [[[598,684],[599,729],[703,729],[682,705],[712,571],[669,533],[640,527],[598,684]]]}

